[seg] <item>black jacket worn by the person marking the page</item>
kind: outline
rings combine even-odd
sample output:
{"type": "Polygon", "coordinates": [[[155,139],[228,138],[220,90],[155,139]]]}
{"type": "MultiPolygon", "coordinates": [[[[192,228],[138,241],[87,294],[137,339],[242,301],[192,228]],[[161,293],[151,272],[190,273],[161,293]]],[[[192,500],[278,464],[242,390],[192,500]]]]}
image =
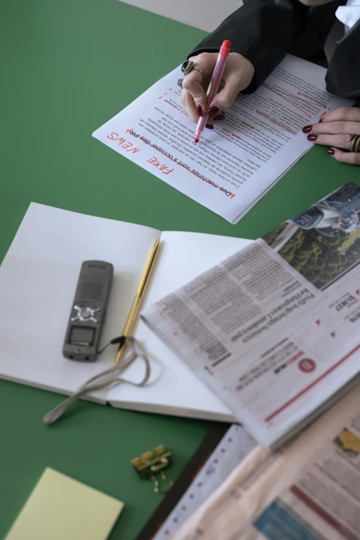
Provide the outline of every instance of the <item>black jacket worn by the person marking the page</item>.
{"type": "MultiPolygon", "coordinates": [[[[323,6],[304,6],[299,0],[247,0],[189,55],[218,51],[224,39],[231,50],[250,59],[254,77],[244,93],[254,92],[290,52],[312,60],[323,50],[336,20],[335,11],[346,0],[323,6]]],[[[326,74],[328,92],[341,97],[360,95],[360,20],[337,41],[326,74]]]]}

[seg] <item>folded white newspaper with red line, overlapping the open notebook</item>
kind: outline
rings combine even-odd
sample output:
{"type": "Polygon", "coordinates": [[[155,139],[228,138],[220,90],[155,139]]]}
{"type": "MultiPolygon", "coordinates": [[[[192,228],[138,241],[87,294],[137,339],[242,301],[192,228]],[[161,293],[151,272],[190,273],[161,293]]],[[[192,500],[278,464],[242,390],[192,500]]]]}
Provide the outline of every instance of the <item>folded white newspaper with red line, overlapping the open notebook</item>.
{"type": "Polygon", "coordinates": [[[141,314],[268,448],[360,381],[359,212],[347,183],[141,314]]]}

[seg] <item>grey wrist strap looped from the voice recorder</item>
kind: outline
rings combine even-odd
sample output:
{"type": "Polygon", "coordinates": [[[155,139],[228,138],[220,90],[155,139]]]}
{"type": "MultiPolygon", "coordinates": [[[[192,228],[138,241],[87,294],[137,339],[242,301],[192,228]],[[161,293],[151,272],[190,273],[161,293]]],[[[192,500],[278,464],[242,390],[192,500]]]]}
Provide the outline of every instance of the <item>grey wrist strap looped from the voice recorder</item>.
{"type": "MultiPolygon", "coordinates": [[[[144,386],[148,382],[151,372],[150,362],[139,341],[132,336],[121,336],[121,338],[113,339],[110,343],[124,343],[124,341],[128,341],[131,347],[128,348],[123,361],[117,366],[112,366],[112,368],[91,377],[91,379],[75,390],[70,397],[64,399],[58,406],[50,410],[50,412],[43,417],[43,423],[45,423],[46,426],[51,426],[55,423],[72,403],[75,403],[75,401],[89,392],[103,390],[103,388],[114,388],[114,386],[117,386],[121,382],[132,384],[133,386],[144,386]],[[137,358],[143,359],[145,363],[145,374],[143,379],[139,383],[134,383],[119,377],[119,375],[121,375],[137,358]]],[[[108,343],[108,345],[110,345],[110,343],[108,343]]],[[[103,352],[107,346],[99,352],[103,352]]]]}

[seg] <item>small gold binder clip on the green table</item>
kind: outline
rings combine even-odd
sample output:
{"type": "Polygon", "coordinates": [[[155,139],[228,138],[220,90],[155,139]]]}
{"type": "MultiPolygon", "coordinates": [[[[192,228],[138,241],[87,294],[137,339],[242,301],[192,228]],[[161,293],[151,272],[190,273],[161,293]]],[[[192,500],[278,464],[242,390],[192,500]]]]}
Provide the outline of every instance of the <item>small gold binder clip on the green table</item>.
{"type": "Polygon", "coordinates": [[[145,452],[141,457],[134,457],[130,463],[134,469],[137,470],[139,477],[152,479],[155,485],[155,493],[168,492],[174,483],[172,480],[167,478],[165,472],[163,472],[163,470],[169,467],[172,463],[171,452],[166,450],[163,444],[157,446],[152,451],[145,452]],[[163,481],[169,484],[168,489],[165,491],[159,488],[159,480],[156,477],[158,472],[160,473],[163,481]]]}

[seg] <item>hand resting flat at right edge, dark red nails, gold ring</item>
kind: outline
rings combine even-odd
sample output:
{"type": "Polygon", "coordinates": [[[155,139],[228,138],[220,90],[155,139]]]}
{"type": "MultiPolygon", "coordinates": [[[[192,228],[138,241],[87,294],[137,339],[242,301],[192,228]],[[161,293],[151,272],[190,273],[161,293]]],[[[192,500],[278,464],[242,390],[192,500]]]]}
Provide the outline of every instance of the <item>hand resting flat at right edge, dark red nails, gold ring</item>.
{"type": "Polygon", "coordinates": [[[308,134],[308,141],[329,146],[328,154],[337,161],[360,165],[360,152],[344,152],[350,150],[354,140],[349,141],[351,135],[360,135],[359,108],[341,107],[327,112],[320,123],[305,126],[303,132],[308,134]]]}

